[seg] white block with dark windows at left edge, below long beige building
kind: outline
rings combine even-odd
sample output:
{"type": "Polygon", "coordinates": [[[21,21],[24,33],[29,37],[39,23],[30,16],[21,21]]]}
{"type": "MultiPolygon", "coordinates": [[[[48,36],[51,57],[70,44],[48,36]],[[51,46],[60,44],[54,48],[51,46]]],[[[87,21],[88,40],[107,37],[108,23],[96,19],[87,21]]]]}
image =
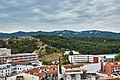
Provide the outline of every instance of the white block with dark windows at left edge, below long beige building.
{"type": "Polygon", "coordinates": [[[11,64],[0,65],[0,77],[6,77],[11,75],[11,64]]]}

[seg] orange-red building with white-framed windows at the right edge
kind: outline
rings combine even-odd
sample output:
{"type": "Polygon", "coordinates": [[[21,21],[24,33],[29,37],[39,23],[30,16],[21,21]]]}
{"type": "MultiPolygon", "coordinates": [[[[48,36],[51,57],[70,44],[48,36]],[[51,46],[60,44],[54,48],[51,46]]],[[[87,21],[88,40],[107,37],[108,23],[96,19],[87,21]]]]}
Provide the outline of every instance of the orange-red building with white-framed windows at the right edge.
{"type": "Polygon", "coordinates": [[[120,75],[120,62],[103,62],[101,64],[101,71],[109,75],[120,75]]]}

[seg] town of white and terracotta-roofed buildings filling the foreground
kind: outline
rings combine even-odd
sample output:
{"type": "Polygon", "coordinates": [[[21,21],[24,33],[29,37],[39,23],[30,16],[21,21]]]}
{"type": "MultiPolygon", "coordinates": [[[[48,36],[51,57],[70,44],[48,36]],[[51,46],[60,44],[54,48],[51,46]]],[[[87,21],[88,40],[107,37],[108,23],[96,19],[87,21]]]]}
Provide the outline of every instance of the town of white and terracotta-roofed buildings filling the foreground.
{"type": "Polygon", "coordinates": [[[73,51],[70,64],[61,65],[59,60],[43,65],[36,53],[11,54],[11,49],[0,48],[0,80],[120,80],[120,62],[114,61],[115,56],[73,51]]]}

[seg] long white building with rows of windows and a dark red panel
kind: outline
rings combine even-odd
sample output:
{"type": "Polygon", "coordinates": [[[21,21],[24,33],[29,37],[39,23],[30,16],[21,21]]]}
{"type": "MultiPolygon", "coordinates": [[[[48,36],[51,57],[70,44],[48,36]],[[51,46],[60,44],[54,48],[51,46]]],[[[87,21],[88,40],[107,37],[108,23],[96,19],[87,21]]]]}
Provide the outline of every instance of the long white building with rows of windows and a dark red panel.
{"type": "Polygon", "coordinates": [[[70,63],[98,63],[105,60],[106,56],[102,55],[69,55],[70,63]]]}

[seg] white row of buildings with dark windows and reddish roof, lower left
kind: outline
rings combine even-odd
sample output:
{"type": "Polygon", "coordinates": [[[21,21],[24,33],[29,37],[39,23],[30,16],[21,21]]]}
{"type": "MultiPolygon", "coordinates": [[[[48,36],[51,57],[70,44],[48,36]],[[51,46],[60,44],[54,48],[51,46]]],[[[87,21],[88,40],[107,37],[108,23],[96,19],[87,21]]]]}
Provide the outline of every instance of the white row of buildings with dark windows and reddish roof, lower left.
{"type": "Polygon", "coordinates": [[[9,62],[0,65],[0,78],[16,75],[34,68],[29,62],[9,62]]]}

